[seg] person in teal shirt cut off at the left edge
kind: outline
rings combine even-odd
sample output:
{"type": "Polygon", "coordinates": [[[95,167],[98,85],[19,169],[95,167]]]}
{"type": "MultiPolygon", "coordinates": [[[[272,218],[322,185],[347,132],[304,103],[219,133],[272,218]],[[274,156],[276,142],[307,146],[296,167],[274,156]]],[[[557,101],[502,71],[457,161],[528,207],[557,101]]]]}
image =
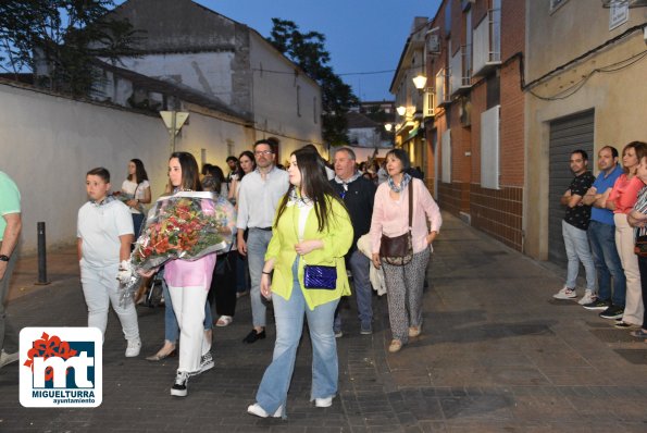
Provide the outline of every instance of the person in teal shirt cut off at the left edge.
{"type": "Polygon", "coordinates": [[[0,368],[18,360],[18,337],[7,320],[4,300],[17,260],[21,236],[21,193],[5,173],[0,172],[0,368]]]}

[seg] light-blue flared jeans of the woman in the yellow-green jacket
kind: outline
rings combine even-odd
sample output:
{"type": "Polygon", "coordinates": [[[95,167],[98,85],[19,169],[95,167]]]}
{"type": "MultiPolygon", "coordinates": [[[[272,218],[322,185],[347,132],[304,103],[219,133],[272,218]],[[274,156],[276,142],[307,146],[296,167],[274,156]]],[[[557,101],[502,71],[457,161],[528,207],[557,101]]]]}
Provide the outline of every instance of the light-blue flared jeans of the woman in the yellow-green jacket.
{"type": "Polygon", "coordinates": [[[312,342],[312,389],[310,399],[326,398],[337,394],[339,368],[337,343],[333,333],[333,318],[339,299],[310,310],[303,298],[297,275],[298,258],[293,267],[295,281],[289,299],[273,296],[276,318],[276,343],[272,363],[265,370],[257,392],[257,403],[269,413],[274,413],[287,399],[287,391],[295,370],[297,348],[303,332],[303,313],[308,319],[312,342]]]}

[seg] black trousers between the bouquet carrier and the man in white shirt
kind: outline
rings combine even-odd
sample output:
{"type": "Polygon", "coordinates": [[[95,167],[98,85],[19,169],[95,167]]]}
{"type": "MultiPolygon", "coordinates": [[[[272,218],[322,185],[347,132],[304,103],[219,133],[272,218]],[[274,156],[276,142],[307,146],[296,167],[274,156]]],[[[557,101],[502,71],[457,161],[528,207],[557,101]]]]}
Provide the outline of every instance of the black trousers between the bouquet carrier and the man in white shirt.
{"type": "Polygon", "coordinates": [[[238,251],[236,250],[217,255],[208,297],[212,311],[215,306],[217,316],[234,316],[236,313],[237,261],[238,251]]]}

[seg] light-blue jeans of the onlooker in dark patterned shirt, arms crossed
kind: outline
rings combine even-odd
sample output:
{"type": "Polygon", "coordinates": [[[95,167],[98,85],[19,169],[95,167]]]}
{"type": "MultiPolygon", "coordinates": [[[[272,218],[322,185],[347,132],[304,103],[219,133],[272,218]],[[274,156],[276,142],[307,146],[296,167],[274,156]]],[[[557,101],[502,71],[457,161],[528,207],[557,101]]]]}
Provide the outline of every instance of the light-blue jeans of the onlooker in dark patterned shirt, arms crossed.
{"type": "Polygon", "coordinates": [[[586,271],[586,289],[595,293],[595,264],[588,246],[586,231],[577,228],[568,222],[561,222],[562,236],[567,247],[567,257],[569,265],[567,268],[567,287],[575,288],[577,283],[577,272],[580,271],[580,261],[584,264],[586,271]]]}

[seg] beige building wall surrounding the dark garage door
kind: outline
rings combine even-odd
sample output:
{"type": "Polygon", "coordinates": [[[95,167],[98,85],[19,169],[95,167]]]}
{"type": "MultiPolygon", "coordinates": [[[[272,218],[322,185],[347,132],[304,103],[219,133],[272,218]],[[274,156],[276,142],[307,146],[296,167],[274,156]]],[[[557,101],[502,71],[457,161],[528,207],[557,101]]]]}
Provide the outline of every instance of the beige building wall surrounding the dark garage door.
{"type": "MultiPolygon", "coordinates": [[[[527,1],[526,5],[526,84],[644,23],[647,17],[647,9],[631,9],[630,22],[609,32],[609,10],[601,8],[599,2],[593,5],[589,0],[569,0],[552,14],[548,11],[548,2],[527,1]]],[[[647,58],[613,73],[594,72],[646,49],[643,33],[634,32],[532,85],[526,91],[527,194],[523,228],[527,255],[542,260],[548,256],[549,122],[595,109],[596,152],[606,145],[613,145],[620,151],[631,140],[647,140],[643,109],[647,100],[647,58]],[[556,100],[539,98],[553,97],[588,75],[590,77],[572,96],[556,100]]],[[[592,159],[589,165],[596,166],[597,158],[592,159]]]]}

